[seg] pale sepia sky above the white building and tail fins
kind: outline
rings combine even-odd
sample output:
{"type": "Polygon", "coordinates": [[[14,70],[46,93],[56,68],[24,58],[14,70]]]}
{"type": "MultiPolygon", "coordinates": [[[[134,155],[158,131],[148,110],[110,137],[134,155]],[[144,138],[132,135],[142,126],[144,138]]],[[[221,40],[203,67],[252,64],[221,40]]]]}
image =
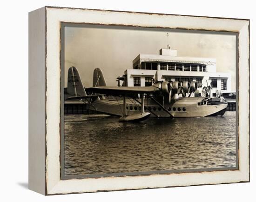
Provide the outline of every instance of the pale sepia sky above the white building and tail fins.
{"type": "Polygon", "coordinates": [[[231,74],[236,90],[236,35],[217,32],[102,25],[68,25],[64,28],[65,87],[67,70],[77,67],[85,87],[93,84],[94,68],[101,68],[108,86],[132,68],[139,54],[159,54],[161,48],[177,49],[178,56],[216,58],[217,72],[231,74]],[[168,33],[168,34],[167,34],[168,33]]]}

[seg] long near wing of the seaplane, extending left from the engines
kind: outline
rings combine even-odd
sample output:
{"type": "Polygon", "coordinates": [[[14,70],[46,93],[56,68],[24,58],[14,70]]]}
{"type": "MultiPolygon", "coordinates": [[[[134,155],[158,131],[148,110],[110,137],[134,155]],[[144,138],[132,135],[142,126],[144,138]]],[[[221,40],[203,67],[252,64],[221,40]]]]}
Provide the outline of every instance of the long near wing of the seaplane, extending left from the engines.
{"type": "Polygon", "coordinates": [[[86,91],[91,93],[101,93],[107,95],[129,95],[129,94],[155,94],[160,91],[160,88],[155,86],[146,86],[146,87],[109,87],[109,86],[101,86],[101,87],[92,87],[86,88],[86,91]]]}

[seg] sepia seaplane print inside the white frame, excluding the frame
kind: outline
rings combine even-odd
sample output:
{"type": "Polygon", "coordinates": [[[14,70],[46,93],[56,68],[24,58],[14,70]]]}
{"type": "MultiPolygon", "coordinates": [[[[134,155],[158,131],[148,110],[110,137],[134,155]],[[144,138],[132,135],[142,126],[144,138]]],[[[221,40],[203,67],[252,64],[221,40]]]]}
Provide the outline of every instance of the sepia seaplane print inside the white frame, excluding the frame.
{"type": "Polygon", "coordinates": [[[61,23],[61,177],[238,169],[237,37],[61,23]]]}

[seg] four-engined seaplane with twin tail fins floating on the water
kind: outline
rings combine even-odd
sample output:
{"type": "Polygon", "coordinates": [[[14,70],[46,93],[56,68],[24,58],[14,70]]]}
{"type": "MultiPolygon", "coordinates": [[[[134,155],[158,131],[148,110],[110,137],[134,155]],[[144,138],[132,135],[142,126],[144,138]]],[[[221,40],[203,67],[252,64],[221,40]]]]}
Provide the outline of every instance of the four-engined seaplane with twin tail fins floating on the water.
{"type": "Polygon", "coordinates": [[[176,118],[222,116],[228,103],[212,97],[192,97],[195,81],[154,81],[152,86],[107,86],[100,68],[94,69],[93,87],[84,88],[76,67],[69,67],[67,100],[79,99],[89,109],[119,116],[120,122],[140,122],[148,117],[176,118]]]}

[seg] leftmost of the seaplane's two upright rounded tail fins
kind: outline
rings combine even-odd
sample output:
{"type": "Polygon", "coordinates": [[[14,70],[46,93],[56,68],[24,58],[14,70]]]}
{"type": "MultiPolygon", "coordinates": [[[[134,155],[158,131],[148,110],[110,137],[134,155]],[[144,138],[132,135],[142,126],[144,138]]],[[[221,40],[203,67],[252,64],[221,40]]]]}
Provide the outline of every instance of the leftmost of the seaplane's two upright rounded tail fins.
{"type": "Polygon", "coordinates": [[[72,96],[87,95],[76,67],[69,67],[68,69],[67,93],[72,96]]]}

